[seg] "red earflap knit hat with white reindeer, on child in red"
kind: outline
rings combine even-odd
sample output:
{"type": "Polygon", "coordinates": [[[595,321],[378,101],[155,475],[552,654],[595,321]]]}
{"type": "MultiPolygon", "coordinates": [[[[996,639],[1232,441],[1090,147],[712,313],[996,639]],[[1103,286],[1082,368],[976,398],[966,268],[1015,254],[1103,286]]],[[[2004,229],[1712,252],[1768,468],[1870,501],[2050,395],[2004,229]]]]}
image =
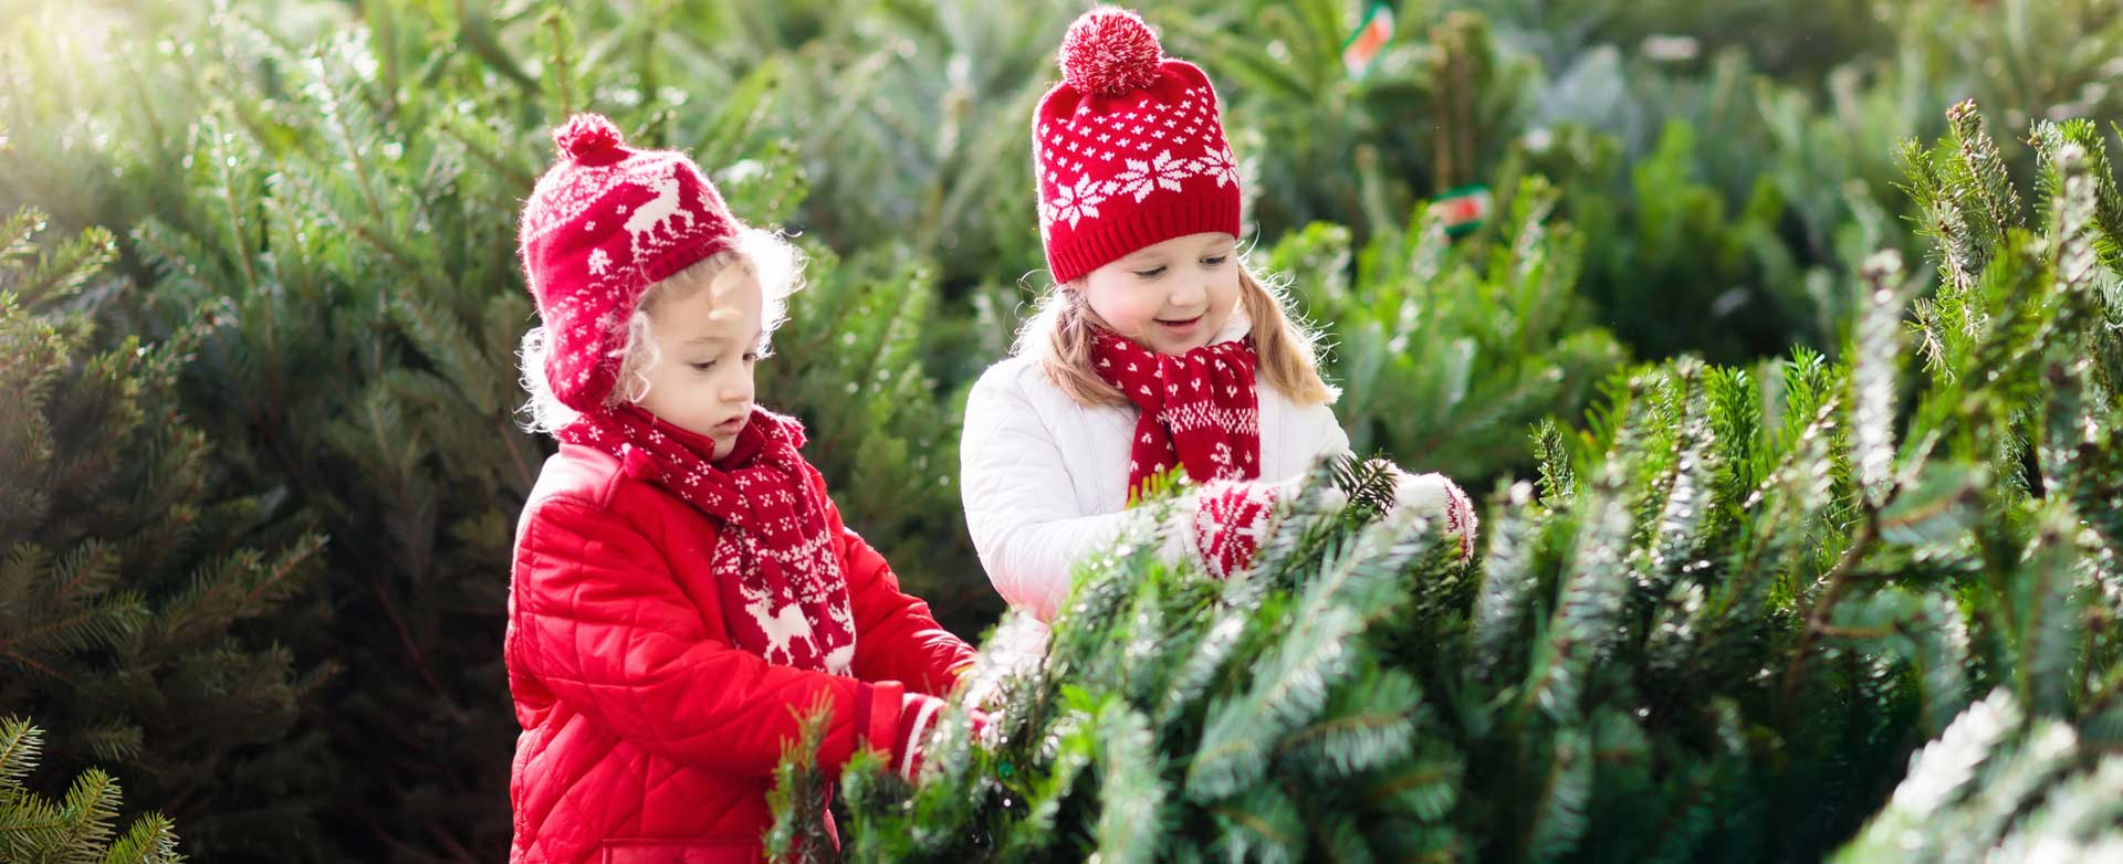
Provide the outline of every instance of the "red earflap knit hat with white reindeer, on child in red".
{"type": "Polygon", "coordinates": [[[626,318],[656,280],[715,255],[743,223],[684,153],[637,151],[599,115],[554,129],[560,159],[524,202],[524,282],[546,323],[546,380],[597,410],[620,374],[626,318]]]}

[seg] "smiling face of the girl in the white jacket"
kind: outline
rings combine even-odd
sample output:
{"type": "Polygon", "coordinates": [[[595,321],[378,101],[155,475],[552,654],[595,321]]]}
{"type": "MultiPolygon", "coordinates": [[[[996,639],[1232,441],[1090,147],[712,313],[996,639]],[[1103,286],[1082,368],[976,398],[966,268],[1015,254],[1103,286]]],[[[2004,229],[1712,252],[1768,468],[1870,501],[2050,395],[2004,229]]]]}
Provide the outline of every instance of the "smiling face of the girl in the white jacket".
{"type": "Polygon", "coordinates": [[[1210,231],[1142,246],[1072,284],[1106,327],[1161,355],[1206,346],[1238,308],[1238,238],[1210,231]]]}

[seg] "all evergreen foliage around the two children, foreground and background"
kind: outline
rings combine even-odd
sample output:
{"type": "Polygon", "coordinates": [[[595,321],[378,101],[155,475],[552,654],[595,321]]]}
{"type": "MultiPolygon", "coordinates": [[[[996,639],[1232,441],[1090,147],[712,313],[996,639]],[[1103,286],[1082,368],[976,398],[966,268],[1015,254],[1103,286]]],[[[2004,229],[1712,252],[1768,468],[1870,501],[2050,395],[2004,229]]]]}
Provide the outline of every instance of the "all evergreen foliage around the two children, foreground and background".
{"type": "MultiPolygon", "coordinates": [[[[1486,554],[1363,509],[1229,586],[1115,550],[1013,743],[849,775],[849,856],[2100,849],[2123,204],[2115,127],[2061,119],[2123,117],[2123,11],[1412,0],[1354,76],[1365,6],[1144,13],[1219,83],[1250,261],[1329,333],[1359,450],[1486,495],[1486,554]],[[1490,219],[1448,234],[1469,185],[1490,219]]],[[[1045,287],[1025,127],[1081,8],[0,0],[0,713],[51,730],[8,726],[45,773],[6,762],[0,819],[505,853],[507,550],[552,446],[514,231],[573,110],[796,234],[762,399],[983,633],[960,403],[1045,287]]],[[[790,783],[798,836],[826,779],[790,783]]],[[[38,856],[104,856],[68,836],[38,856]]]]}

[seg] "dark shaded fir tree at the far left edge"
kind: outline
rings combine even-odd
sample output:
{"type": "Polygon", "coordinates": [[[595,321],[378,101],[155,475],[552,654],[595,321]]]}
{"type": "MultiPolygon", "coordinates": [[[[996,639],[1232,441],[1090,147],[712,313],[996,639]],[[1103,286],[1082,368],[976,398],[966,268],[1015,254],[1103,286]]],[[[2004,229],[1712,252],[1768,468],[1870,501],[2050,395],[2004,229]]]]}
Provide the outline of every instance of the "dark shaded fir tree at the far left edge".
{"type": "Polygon", "coordinates": [[[333,781],[299,724],[335,664],[280,626],[314,618],[323,541],[272,495],[217,490],[176,395],[191,342],[98,333],[72,308],[123,289],[100,274],[113,238],[47,250],[45,219],[0,225],[0,711],[51,722],[57,766],[106,766],[204,849],[299,856],[333,781]]]}

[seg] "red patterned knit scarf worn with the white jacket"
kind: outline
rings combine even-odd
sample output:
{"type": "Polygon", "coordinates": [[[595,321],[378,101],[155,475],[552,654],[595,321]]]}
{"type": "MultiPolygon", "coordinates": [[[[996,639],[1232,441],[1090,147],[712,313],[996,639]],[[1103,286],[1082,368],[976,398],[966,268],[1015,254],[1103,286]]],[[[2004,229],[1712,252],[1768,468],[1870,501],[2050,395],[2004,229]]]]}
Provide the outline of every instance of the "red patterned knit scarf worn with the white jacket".
{"type": "Polygon", "coordinates": [[[1187,478],[1261,476],[1261,393],[1253,340],[1219,342],[1185,355],[1159,355],[1112,331],[1098,331],[1093,365],[1142,416],[1127,465],[1127,497],[1174,467],[1187,478]]]}

